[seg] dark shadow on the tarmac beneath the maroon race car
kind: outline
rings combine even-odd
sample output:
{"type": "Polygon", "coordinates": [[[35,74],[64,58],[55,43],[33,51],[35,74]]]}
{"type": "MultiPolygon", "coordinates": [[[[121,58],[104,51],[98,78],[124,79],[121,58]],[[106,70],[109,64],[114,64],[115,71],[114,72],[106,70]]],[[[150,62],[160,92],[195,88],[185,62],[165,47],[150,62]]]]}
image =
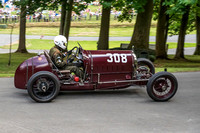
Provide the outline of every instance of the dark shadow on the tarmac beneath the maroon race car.
{"type": "MultiPolygon", "coordinates": [[[[29,99],[29,103],[35,103],[27,91],[20,91],[17,93],[16,97],[20,99],[29,99]]],[[[106,99],[106,100],[116,100],[116,99],[137,99],[140,102],[150,102],[152,101],[147,93],[145,87],[129,87],[128,89],[116,89],[116,90],[97,90],[97,91],[60,91],[58,96],[53,102],[65,101],[65,100],[87,100],[87,99],[106,99]]]]}

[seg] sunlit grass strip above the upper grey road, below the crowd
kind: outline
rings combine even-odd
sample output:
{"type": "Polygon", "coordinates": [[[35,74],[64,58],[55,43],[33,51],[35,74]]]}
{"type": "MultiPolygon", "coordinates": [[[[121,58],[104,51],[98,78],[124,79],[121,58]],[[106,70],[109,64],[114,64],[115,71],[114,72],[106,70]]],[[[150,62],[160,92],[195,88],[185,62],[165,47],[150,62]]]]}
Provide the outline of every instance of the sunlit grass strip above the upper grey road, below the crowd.
{"type": "MultiPolygon", "coordinates": [[[[0,34],[10,34],[10,29],[0,29],[0,34]]],[[[70,36],[98,37],[100,28],[71,28],[70,36]]],[[[15,28],[13,34],[19,34],[19,29],[15,28]]],[[[27,35],[56,36],[59,34],[58,27],[32,27],[26,29],[27,35]]],[[[132,36],[133,27],[110,28],[110,36],[132,36]]],[[[156,35],[156,28],[151,28],[150,36],[156,35]]]]}

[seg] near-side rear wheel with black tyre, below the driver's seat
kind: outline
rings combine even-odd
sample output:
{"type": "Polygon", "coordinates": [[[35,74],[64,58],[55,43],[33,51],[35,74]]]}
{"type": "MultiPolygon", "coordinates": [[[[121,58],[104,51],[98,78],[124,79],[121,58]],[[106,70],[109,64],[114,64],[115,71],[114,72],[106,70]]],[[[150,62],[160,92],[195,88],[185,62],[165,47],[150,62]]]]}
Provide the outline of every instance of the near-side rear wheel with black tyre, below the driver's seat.
{"type": "Polygon", "coordinates": [[[51,102],[60,91],[60,83],[53,73],[40,71],[31,76],[27,83],[27,90],[36,102],[51,102]]]}

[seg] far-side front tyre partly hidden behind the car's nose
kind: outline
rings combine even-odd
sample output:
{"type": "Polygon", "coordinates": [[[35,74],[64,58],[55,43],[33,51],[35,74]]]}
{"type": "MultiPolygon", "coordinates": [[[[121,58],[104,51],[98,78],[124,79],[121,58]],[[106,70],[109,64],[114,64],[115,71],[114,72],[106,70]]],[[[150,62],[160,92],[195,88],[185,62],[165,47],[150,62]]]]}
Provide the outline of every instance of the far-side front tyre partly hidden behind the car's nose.
{"type": "Polygon", "coordinates": [[[137,62],[138,62],[138,68],[145,67],[148,69],[149,72],[151,72],[152,74],[155,74],[155,67],[150,60],[146,58],[138,58],[137,62]]]}

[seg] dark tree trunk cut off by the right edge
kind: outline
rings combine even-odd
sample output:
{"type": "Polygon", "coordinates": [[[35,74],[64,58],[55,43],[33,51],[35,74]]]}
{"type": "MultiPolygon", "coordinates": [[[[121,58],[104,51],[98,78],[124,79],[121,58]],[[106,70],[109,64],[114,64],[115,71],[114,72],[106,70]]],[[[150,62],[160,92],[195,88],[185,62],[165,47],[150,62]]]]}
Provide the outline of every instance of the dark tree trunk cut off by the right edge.
{"type": "Polygon", "coordinates": [[[200,55],[200,17],[196,15],[196,49],[194,55],[200,55]]]}

